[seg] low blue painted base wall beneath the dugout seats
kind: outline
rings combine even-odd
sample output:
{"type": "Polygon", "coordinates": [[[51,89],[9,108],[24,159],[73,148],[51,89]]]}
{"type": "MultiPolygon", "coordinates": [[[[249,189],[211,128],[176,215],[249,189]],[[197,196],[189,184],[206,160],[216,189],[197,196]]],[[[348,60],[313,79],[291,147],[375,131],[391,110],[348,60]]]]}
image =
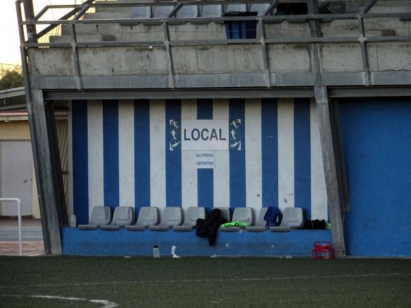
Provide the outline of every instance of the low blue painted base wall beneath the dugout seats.
{"type": "Polygon", "coordinates": [[[84,231],[62,228],[63,253],[66,255],[153,255],[153,246],[161,255],[171,255],[177,246],[180,256],[311,256],[316,241],[330,241],[328,230],[292,230],[287,233],[219,232],[215,246],[195,231],[84,231]]]}

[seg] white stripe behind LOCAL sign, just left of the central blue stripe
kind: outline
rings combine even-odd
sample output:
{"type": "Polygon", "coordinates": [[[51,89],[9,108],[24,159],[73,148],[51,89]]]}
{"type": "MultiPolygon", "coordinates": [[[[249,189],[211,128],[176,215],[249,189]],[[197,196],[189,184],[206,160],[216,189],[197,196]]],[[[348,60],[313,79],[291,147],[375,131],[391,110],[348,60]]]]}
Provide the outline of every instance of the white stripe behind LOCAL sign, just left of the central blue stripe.
{"type": "MultiPolygon", "coordinates": [[[[197,101],[182,100],[182,122],[197,119],[197,101]]],[[[183,133],[183,132],[182,132],[183,133]]],[[[198,206],[197,167],[195,166],[197,151],[182,151],[182,207],[198,206]]]]}

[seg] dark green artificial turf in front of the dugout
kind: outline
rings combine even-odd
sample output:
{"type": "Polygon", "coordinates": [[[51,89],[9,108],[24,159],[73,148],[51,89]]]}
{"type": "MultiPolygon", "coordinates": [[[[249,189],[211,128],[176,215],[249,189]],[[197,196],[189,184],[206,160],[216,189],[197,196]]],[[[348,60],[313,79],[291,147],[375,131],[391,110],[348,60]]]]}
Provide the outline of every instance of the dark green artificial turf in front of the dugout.
{"type": "Polygon", "coordinates": [[[410,259],[0,257],[0,307],[411,307],[410,259]]]}

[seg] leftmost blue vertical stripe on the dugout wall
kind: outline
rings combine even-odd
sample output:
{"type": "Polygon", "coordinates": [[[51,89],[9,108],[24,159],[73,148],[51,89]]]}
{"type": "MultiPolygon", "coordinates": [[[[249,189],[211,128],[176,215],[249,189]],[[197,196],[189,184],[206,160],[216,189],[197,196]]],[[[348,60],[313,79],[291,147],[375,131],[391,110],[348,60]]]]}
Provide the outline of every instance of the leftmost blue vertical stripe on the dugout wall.
{"type": "Polygon", "coordinates": [[[88,138],[87,101],[73,101],[71,108],[73,136],[73,214],[78,224],[88,223],[88,138]]]}

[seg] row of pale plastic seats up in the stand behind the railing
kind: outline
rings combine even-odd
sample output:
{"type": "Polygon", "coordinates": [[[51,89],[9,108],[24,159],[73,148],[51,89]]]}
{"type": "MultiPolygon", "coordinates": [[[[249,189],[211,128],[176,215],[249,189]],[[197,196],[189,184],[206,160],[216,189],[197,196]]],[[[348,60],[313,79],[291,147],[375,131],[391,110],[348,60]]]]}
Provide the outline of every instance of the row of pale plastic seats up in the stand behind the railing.
{"type": "MultiPolygon", "coordinates": [[[[264,12],[270,7],[270,3],[253,3],[251,4],[249,12],[257,12],[258,16],[262,16],[264,12]]],[[[134,7],[131,10],[131,16],[129,18],[136,19],[148,19],[152,18],[152,21],[145,22],[147,25],[158,25],[160,21],[156,21],[155,18],[167,18],[170,13],[174,10],[173,5],[166,6],[139,6],[134,7]]],[[[227,5],[226,12],[247,12],[246,4],[229,4],[227,5]]],[[[221,4],[212,4],[212,5],[202,5],[202,8],[199,8],[199,5],[184,5],[181,9],[175,14],[176,18],[212,18],[212,17],[221,17],[223,16],[223,5],[221,4]]],[[[170,21],[171,25],[184,24],[184,21],[170,21]]],[[[198,21],[191,21],[190,23],[195,25],[202,25],[208,23],[208,21],[201,21],[199,18],[198,21]]],[[[121,25],[127,25],[126,23],[121,25]]]]}

